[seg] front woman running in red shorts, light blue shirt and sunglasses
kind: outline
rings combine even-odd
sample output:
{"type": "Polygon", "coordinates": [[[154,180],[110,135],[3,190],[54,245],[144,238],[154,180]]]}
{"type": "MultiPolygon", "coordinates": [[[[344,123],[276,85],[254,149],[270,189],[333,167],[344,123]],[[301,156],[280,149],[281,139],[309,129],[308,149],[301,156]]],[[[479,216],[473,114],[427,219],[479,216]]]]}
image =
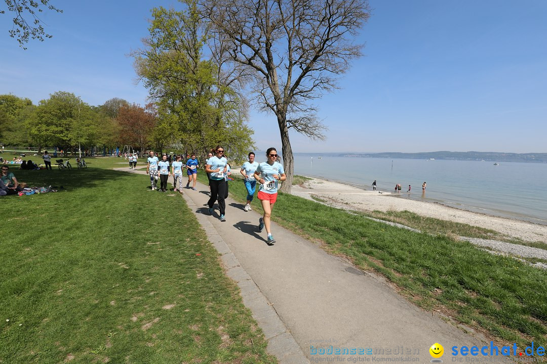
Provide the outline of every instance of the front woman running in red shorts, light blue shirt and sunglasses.
{"type": "Polygon", "coordinates": [[[264,216],[258,222],[258,232],[264,227],[268,233],[268,245],[275,243],[274,236],[271,234],[270,219],[272,208],[277,200],[278,181],[287,180],[287,175],[283,165],[277,162],[277,151],[275,148],[268,148],[266,151],[267,162],[260,163],[257,170],[254,171],[254,178],[260,184],[258,186],[258,199],[262,204],[264,216]]]}

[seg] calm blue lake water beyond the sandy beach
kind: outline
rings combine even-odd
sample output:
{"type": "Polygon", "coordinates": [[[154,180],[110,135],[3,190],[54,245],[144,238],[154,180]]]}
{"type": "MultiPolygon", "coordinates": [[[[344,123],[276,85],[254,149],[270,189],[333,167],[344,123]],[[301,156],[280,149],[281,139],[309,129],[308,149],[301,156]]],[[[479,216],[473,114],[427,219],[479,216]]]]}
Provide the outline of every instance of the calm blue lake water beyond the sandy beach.
{"type": "Polygon", "coordinates": [[[463,210],[547,225],[547,164],[389,158],[317,158],[296,153],[294,173],[393,192],[399,198],[439,202],[463,210]],[[393,163],[393,165],[392,165],[393,163]],[[422,183],[427,182],[422,196],[422,183]],[[411,193],[406,193],[408,185],[411,193]]]}

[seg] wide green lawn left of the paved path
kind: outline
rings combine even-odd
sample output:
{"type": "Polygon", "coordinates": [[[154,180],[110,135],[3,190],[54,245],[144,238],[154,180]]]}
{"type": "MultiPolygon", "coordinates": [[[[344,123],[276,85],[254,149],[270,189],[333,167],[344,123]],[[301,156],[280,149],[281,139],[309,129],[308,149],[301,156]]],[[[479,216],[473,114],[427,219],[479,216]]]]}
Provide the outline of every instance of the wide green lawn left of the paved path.
{"type": "Polygon", "coordinates": [[[277,362],[182,196],[86,162],[0,198],[0,363],[277,362]]]}

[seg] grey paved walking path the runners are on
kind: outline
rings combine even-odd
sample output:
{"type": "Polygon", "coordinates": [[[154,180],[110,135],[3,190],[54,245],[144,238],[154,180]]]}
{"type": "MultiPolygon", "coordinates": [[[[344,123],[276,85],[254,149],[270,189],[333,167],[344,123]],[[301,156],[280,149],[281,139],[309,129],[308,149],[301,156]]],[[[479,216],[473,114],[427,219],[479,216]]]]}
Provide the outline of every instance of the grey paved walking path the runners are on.
{"type": "MultiPolygon", "coordinates": [[[[451,362],[453,346],[490,347],[481,335],[465,333],[440,315],[411,305],[381,277],[358,270],[275,223],[272,234],[277,242],[268,246],[265,230],[257,230],[260,215],[243,211],[243,205],[231,198],[226,200],[226,222],[220,222],[216,206],[213,216],[207,213],[207,186],[196,187],[197,191],[184,189],[184,199],[222,255],[228,275],[239,284],[243,302],[269,342],[269,352],[281,363],[409,357],[428,363],[434,343],[444,346],[441,359],[451,362]],[[373,354],[313,354],[331,347],[371,348],[373,354]]],[[[503,357],[496,359],[502,362],[503,357]]]]}

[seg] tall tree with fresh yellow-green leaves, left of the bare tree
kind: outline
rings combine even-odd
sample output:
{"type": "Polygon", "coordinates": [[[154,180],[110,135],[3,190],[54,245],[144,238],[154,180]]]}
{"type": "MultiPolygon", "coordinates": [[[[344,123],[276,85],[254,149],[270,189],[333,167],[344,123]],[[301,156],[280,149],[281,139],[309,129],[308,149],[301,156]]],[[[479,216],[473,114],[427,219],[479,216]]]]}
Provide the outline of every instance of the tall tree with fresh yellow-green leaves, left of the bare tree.
{"type": "Polygon", "coordinates": [[[196,1],[184,4],[186,11],[153,9],[146,48],[134,54],[137,73],[158,104],[160,122],[153,138],[164,145],[179,141],[201,155],[223,144],[237,158],[252,146],[253,134],[233,88],[237,81],[220,77],[225,74],[218,60],[203,55],[206,24],[196,1]],[[242,137],[234,140],[232,135],[242,137]]]}

